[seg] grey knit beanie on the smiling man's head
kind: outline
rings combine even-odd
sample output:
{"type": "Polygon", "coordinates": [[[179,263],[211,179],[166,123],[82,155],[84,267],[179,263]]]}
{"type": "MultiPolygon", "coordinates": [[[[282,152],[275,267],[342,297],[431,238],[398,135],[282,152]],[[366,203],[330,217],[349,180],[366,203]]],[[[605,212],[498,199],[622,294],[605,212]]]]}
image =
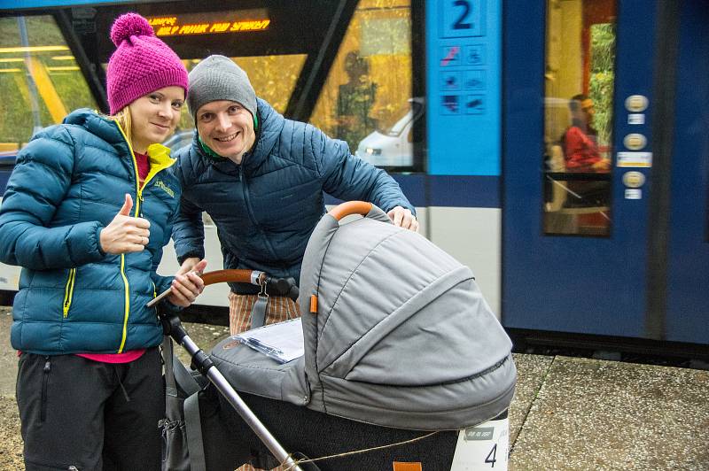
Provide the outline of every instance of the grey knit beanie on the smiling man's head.
{"type": "Polygon", "coordinates": [[[197,119],[197,112],[203,104],[217,100],[238,102],[256,116],[256,92],[248,75],[230,58],[209,56],[200,61],[188,77],[187,106],[193,118],[197,119]]]}

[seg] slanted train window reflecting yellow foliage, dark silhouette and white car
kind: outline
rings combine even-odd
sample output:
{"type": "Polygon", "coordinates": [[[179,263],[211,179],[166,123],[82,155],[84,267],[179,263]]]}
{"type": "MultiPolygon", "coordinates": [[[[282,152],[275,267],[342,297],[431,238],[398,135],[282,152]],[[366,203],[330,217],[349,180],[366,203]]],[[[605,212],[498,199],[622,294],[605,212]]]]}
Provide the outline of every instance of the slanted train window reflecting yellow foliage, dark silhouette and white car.
{"type": "Polygon", "coordinates": [[[310,122],[377,166],[411,170],[413,123],[409,0],[361,0],[310,122]]]}

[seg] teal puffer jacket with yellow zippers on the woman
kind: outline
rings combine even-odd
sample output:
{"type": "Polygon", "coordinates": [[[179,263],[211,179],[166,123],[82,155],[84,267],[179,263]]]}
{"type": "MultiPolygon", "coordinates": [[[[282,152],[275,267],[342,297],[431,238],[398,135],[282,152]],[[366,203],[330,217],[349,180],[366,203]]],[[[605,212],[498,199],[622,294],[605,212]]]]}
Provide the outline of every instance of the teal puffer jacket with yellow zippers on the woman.
{"type": "Polygon", "coordinates": [[[148,151],[151,172],[138,188],[136,162],[120,127],[90,110],[47,127],[19,152],[0,206],[0,261],[22,266],[12,347],[54,355],[117,353],[160,344],[155,308],[167,290],[156,274],[180,200],[167,148],[148,151]],[[105,228],[125,200],[150,221],[146,250],[106,254],[105,228]]]}

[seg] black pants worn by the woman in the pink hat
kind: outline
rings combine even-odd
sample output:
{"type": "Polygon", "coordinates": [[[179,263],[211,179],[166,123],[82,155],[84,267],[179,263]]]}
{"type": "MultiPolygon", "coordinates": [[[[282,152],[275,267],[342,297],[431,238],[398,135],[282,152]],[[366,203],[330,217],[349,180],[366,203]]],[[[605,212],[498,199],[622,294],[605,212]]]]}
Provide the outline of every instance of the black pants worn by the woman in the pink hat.
{"type": "Polygon", "coordinates": [[[119,364],[23,353],[16,396],[27,471],[160,469],[157,348],[119,364]]]}

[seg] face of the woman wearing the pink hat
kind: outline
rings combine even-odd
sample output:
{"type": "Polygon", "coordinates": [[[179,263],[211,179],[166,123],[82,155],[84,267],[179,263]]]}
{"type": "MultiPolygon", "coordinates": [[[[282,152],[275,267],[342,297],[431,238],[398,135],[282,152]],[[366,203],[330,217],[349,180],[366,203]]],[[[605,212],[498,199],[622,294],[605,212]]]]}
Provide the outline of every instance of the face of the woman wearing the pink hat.
{"type": "Polygon", "coordinates": [[[133,151],[144,154],[149,145],[162,143],[172,135],[183,104],[184,89],[174,86],[155,90],[129,104],[133,151]]]}

